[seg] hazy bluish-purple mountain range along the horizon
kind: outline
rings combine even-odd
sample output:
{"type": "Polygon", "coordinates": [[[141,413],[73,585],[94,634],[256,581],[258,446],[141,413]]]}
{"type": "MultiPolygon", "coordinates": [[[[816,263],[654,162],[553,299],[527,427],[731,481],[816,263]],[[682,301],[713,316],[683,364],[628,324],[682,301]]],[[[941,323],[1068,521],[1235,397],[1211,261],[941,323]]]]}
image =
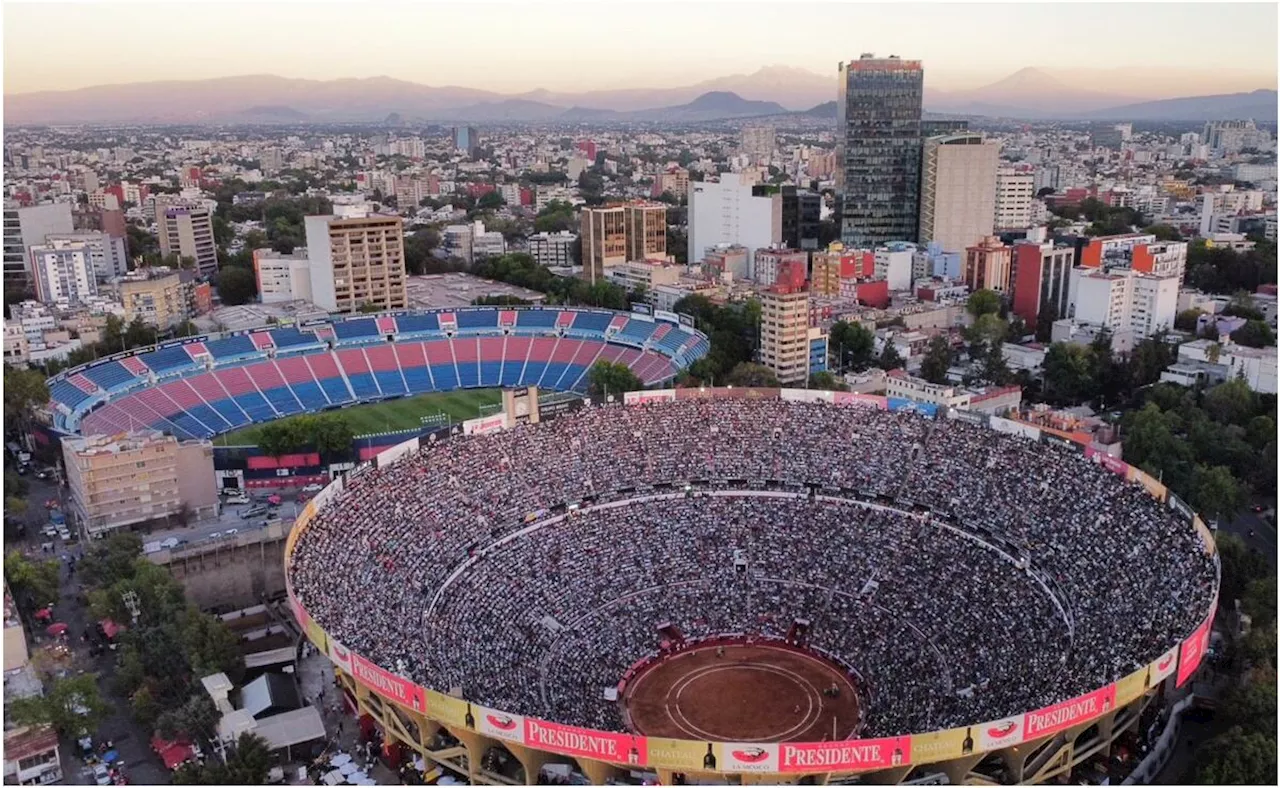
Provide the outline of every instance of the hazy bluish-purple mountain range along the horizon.
{"type": "MultiPolygon", "coordinates": [[[[503,95],[468,87],[435,87],[372,77],[293,79],[225,77],[104,84],[74,91],[4,97],[10,124],[74,123],[324,123],[404,122],[698,123],[805,113],[826,116],[837,78],[790,67],[765,67],[672,88],[625,88],[581,93],[530,91],[503,95]]],[[[972,90],[924,90],[931,113],[1027,120],[1208,120],[1276,116],[1276,91],[1192,97],[1120,95],[1078,87],[1046,70],[1024,68],[972,90]]]]}

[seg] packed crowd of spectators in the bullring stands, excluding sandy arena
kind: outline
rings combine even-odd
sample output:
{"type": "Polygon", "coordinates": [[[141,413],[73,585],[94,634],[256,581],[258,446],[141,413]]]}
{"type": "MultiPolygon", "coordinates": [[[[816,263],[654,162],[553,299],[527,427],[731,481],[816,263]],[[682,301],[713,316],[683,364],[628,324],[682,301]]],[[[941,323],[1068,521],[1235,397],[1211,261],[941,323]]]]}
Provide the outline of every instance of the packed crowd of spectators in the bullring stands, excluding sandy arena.
{"type": "Polygon", "coordinates": [[[1203,620],[1197,532],[1079,452],[780,399],[586,408],[344,480],[289,559],[329,643],[424,687],[625,730],[603,691],[691,637],[782,637],[863,679],[864,736],[998,720],[1203,620]]]}

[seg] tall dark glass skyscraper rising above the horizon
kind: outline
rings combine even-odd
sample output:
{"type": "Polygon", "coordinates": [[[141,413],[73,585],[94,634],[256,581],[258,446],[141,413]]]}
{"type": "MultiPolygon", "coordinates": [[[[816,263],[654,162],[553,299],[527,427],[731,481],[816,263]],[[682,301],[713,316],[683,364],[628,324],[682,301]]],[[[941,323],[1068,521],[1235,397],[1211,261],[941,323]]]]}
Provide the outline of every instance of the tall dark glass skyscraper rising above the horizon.
{"type": "Polygon", "coordinates": [[[870,248],[915,240],[920,211],[919,60],[863,55],[840,64],[840,235],[870,248]]]}

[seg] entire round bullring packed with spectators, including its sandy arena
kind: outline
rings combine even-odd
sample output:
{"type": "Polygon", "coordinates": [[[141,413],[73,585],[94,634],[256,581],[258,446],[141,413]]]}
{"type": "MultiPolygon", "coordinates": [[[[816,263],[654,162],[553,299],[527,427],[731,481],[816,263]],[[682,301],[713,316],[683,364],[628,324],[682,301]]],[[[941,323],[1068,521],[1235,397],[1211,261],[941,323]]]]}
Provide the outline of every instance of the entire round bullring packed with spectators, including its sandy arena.
{"type": "Polygon", "coordinates": [[[1004,418],[648,390],[384,452],[288,597],[361,727],[472,783],[1061,783],[1204,655],[1174,501],[1004,418]]]}

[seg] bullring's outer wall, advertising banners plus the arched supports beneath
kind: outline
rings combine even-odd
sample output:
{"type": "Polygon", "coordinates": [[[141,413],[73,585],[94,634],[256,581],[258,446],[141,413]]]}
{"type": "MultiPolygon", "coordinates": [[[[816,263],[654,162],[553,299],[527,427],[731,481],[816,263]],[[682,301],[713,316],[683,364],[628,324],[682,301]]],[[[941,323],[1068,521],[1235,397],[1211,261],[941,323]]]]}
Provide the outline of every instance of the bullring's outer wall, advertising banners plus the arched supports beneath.
{"type": "MultiPolygon", "coordinates": [[[[833,407],[873,407],[879,409],[922,411],[927,417],[983,422],[1002,432],[1028,440],[1060,439],[1025,423],[986,414],[948,411],[940,413],[905,400],[860,394],[791,389],[673,389],[635,391],[626,406],[686,398],[772,398],[820,402],[833,407]]],[[[420,446],[408,441],[376,458],[378,466],[398,462],[420,446]]],[[[1213,539],[1203,521],[1172,498],[1157,480],[1108,455],[1092,457],[1106,469],[1140,484],[1161,503],[1183,513],[1187,527],[1194,528],[1204,550],[1213,554],[1213,539]]],[[[355,473],[365,468],[357,468],[355,473]]],[[[462,768],[474,784],[503,784],[498,775],[481,769],[481,756],[492,747],[509,751],[525,769],[530,783],[543,765],[575,762],[595,784],[605,783],[618,771],[655,773],[662,784],[672,784],[673,774],[690,778],[726,779],[731,783],[809,783],[859,778],[872,783],[969,782],[970,771],[982,762],[1000,761],[1006,782],[1044,783],[1066,779],[1074,766],[1106,752],[1126,730],[1137,728],[1139,715],[1157,696],[1162,684],[1184,686],[1204,656],[1216,609],[1213,604],[1181,642],[1157,659],[1119,681],[1097,687],[1078,697],[1043,709],[997,720],[945,730],[925,730],[888,738],[851,738],[813,742],[722,742],[648,737],[635,733],[593,730],[534,719],[471,704],[463,697],[428,690],[376,665],[344,647],[314,620],[294,595],[291,563],[298,537],[317,512],[343,489],[335,480],[312,499],[297,519],[285,545],[285,578],[293,615],[306,638],[332,660],[339,684],[362,723],[376,725],[388,746],[421,756],[429,765],[445,762],[462,768]],[[447,732],[461,747],[435,751],[430,747],[438,732],[447,732]],[[461,755],[466,765],[460,766],[461,755]]],[[[564,517],[566,514],[556,516],[564,517]]],[[[550,518],[548,518],[550,519],[550,518]]],[[[1216,588],[1216,586],[1215,586],[1216,588]]],[[[991,782],[991,778],[980,778],[991,782]]]]}

